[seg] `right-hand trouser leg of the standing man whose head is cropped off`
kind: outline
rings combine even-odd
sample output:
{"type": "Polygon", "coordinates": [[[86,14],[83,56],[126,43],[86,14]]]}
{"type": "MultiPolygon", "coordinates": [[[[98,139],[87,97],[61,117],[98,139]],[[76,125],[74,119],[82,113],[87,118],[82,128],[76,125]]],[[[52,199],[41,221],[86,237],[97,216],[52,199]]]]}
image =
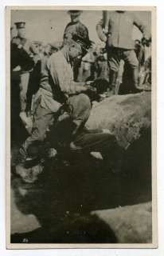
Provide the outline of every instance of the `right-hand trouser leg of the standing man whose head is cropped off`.
{"type": "Polygon", "coordinates": [[[137,92],[137,87],[139,83],[139,61],[135,54],[135,50],[124,50],[123,59],[125,62],[127,62],[127,65],[131,70],[132,90],[137,92]]]}

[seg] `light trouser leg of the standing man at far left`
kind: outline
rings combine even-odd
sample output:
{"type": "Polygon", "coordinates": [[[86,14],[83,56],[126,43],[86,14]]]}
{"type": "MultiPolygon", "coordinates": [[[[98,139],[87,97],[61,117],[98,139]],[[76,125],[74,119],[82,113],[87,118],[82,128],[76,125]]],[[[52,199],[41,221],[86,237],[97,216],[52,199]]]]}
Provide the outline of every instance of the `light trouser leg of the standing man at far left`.
{"type": "Polygon", "coordinates": [[[20,76],[20,106],[21,111],[25,111],[26,108],[26,94],[29,85],[29,73],[21,74],[20,76]]]}

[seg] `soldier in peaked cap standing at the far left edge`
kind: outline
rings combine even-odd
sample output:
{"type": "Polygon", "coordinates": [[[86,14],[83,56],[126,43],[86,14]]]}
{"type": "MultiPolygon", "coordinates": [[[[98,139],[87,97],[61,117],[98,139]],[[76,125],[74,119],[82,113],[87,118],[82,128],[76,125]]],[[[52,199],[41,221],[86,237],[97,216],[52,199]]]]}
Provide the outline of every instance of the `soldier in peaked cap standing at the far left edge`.
{"type": "MultiPolygon", "coordinates": [[[[29,57],[33,58],[34,55],[38,54],[37,48],[33,45],[29,39],[25,38],[25,22],[15,22],[16,28],[18,30],[18,35],[14,37],[11,41],[11,45],[18,46],[18,49],[23,49],[29,55],[29,57]]],[[[12,48],[11,48],[12,49],[12,48]]],[[[17,58],[17,57],[15,57],[17,58]]],[[[20,74],[20,106],[21,113],[20,117],[22,120],[26,118],[25,110],[26,110],[26,93],[29,85],[29,74],[31,70],[24,70],[23,66],[21,66],[21,74],[20,74]]]]}

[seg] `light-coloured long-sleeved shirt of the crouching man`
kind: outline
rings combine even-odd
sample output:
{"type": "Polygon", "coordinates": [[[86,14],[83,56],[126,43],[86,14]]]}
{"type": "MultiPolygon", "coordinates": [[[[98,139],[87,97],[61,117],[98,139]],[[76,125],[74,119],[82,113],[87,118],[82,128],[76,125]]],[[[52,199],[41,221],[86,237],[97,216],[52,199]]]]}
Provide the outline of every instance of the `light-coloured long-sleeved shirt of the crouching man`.
{"type": "MultiPolygon", "coordinates": [[[[49,106],[49,97],[63,103],[62,98],[66,95],[80,93],[86,90],[84,83],[73,81],[72,66],[66,50],[52,54],[47,60],[45,70],[41,74],[41,90],[45,106],[49,106]],[[45,92],[46,91],[46,92],[45,92]],[[49,94],[51,93],[51,94],[49,94]]],[[[49,106],[50,107],[50,106],[49,106]]]]}

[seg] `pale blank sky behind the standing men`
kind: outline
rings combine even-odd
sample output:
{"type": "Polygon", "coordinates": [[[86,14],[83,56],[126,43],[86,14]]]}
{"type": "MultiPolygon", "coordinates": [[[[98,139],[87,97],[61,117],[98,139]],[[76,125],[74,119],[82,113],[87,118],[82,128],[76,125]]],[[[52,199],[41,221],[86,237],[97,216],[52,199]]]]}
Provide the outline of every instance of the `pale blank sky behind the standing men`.
{"type": "MultiPolygon", "coordinates": [[[[150,29],[150,12],[135,11],[150,29]]],[[[101,10],[84,10],[81,22],[88,27],[89,37],[94,42],[100,42],[96,34],[96,23],[102,17],[101,10]]],[[[11,25],[14,22],[26,22],[26,37],[41,42],[62,41],[64,27],[70,22],[67,10],[12,10],[11,25]]],[[[126,28],[125,28],[126,29],[126,28]]],[[[141,38],[137,28],[134,28],[133,38],[141,38]]]]}

